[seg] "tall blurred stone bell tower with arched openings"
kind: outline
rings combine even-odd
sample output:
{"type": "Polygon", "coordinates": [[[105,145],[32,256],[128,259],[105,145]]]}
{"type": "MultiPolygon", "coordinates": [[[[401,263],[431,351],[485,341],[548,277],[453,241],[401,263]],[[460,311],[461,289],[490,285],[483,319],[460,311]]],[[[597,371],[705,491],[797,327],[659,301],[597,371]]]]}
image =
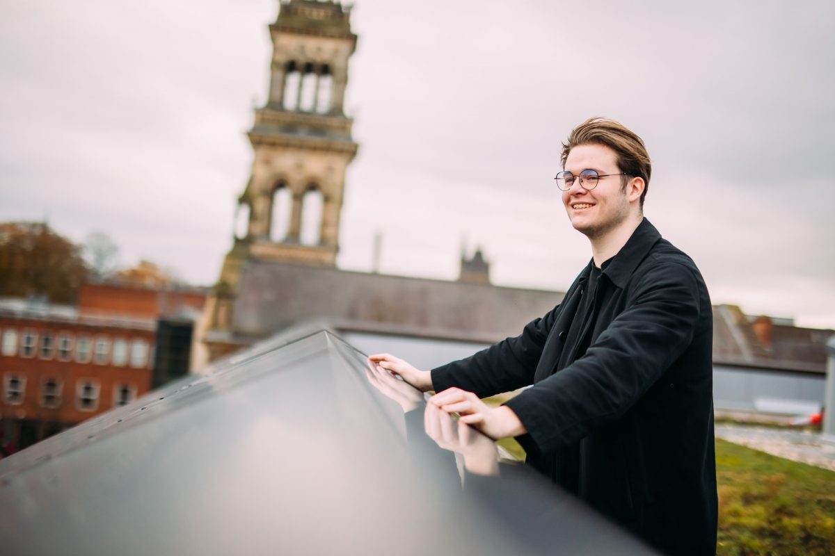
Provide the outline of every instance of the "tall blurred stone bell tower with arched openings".
{"type": "Polygon", "coordinates": [[[273,53],[266,104],[248,136],[251,177],[238,199],[235,243],[205,309],[210,359],[231,350],[208,338],[232,333],[245,261],[335,266],[347,166],[357,154],[343,111],[348,60],[357,46],[342,3],[281,0],[270,25],[273,53]]]}

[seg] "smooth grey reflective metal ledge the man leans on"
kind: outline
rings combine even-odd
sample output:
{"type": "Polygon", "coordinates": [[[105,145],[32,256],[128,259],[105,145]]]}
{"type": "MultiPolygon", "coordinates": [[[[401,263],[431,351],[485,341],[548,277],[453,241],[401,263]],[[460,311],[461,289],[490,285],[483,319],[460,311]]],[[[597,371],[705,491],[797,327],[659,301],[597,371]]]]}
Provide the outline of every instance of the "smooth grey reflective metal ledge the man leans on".
{"type": "Polygon", "coordinates": [[[10,554],[650,553],[331,333],[0,460],[10,554]]]}

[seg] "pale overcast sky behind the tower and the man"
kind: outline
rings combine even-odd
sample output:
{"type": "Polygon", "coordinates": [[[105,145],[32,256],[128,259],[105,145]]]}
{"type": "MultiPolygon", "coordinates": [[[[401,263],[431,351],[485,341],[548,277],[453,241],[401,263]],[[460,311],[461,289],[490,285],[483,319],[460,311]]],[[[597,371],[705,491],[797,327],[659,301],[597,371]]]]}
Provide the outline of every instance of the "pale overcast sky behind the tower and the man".
{"type": "MultiPolygon", "coordinates": [[[[0,219],[214,283],[277,0],[0,0],[0,219]]],[[[645,139],[645,215],[714,303],[835,328],[835,3],[357,0],[341,268],[564,290],[554,173],[585,118],[645,139]]]]}

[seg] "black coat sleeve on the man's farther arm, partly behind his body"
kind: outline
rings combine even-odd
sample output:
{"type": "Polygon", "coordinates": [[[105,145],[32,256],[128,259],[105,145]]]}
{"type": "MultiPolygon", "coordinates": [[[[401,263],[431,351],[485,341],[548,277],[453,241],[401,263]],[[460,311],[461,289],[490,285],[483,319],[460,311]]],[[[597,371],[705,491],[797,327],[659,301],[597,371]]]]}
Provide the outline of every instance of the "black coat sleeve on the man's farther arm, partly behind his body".
{"type": "Polygon", "coordinates": [[[433,388],[441,392],[457,386],[487,398],[529,386],[534,382],[539,357],[557,315],[559,305],[543,318],[526,324],[519,336],[504,339],[466,359],[433,368],[433,388]]]}

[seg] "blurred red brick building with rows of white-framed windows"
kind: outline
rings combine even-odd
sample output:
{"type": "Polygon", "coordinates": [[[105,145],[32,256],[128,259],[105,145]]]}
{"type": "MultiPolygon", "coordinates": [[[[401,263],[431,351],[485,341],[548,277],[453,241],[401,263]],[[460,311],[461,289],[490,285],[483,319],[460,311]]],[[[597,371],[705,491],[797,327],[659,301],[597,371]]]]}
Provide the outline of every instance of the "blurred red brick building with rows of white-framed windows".
{"type": "Polygon", "coordinates": [[[115,283],[84,284],[78,306],[0,298],[3,455],[129,403],[158,385],[157,369],[185,373],[171,323],[188,324],[188,346],[204,299],[199,288],[115,283]]]}

